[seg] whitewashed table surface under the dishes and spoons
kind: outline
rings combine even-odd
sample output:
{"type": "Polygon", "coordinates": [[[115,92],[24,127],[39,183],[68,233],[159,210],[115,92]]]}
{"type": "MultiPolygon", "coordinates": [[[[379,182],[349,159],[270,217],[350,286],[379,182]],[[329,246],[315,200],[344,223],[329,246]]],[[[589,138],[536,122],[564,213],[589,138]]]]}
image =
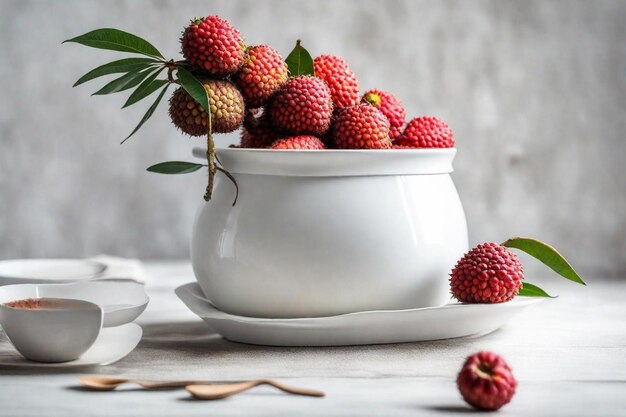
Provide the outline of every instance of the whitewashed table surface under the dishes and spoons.
{"type": "MultiPolygon", "coordinates": [[[[449,416],[471,415],[455,387],[463,359],[502,354],[518,392],[499,415],[626,416],[626,280],[533,279],[560,295],[475,339],[334,348],[231,343],[189,312],[174,288],[193,280],[187,262],[148,262],[144,336],[114,365],[83,371],[0,368],[0,416],[449,416]],[[185,391],[94,393],[81,373],[157,379],[277,378],[326,391],[325,398],[258,388],[203,402],[185,391]]],[[[4,335],[0,344],[6,344],[4,335]]],[[[481,414],[481,413],[477,413],[481,414]]],[[[484,415],[484,413],[482,413],[484,415]]]]}

